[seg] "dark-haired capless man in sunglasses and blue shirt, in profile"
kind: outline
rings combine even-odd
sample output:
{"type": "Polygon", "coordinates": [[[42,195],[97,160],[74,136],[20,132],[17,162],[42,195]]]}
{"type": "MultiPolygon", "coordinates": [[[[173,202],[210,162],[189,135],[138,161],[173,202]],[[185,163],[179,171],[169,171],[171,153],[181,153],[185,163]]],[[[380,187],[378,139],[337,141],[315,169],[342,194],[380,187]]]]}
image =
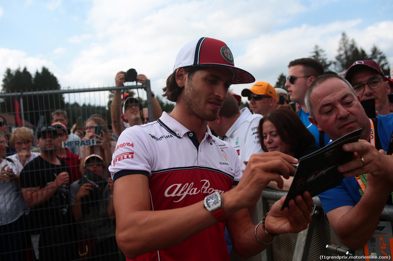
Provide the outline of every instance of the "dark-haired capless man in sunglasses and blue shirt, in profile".
{"type": "Polygon", "coordinates": [[[301,105],[298,116],[306,128],[314,135],[315,145],[324,147],[329,143],[330,138],[309,121],[310,114],[304,102],[304,97],[310,84],[315,78],[324,73],[323,65],[312,58],[301,58],[291,61],[288,68],[285,87],[288,88],[289,97],[292,101],[301,105]]]}

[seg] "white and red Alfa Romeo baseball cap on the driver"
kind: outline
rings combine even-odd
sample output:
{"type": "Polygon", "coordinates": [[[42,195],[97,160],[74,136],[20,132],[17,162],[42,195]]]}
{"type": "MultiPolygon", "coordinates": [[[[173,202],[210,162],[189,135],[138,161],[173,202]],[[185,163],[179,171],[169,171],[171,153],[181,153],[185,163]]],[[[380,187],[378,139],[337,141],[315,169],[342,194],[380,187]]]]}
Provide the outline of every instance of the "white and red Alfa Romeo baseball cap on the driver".
{"type": "Polygon", "coordinates": [[[233,84],[255,82],[250,72],[235,67],[232,52],[224,42],[208,37],[184,45],[177,54],[173,71],[180,67],[209,65],[230,69],[233,72],[233,84]]]}

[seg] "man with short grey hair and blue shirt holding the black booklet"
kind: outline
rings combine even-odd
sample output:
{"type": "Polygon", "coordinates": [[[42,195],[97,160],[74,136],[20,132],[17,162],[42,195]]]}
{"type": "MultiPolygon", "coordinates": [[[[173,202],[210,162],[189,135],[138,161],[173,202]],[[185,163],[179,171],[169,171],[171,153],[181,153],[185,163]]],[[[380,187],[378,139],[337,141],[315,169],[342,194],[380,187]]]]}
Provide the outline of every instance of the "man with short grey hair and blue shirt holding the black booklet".
{"type": "Polygon", "coordinates": [[[358,142],[343,145],[344,151],[355,152],[352,161],[338,167],[346,178],[319,195],[340,241],[357,250],[373,235],[385,204],[392,204],[393,157],[385,151],[393,131],[393,114],[367,118],[349,82],[333,74],[315,79],[305,104],[310,122],[333,141],[362,128],[358,142]]]}

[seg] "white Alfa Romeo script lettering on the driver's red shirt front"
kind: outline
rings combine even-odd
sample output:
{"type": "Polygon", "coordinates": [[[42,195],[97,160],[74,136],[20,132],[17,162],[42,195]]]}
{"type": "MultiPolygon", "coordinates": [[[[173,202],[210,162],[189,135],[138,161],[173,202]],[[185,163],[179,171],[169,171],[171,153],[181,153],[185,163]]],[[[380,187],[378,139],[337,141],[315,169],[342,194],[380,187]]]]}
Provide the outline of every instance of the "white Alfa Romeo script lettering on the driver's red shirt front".
{"type": "Polygon", "coordinates": [[[210,188],[210,182],[207,179],[202,179],[200,182],[202,183],[202,187],[200,189],[198,187],[193,187],[194,182],[185,183],[184,185],[182,183],[170,185],[165,190],[164,195],[165,197],[180,197],[180,199],[173,201],[173,202],[179,202],[182,199],[184,199],[184,197],[187,195],[195,195],[200,192],[204,194],[211,194],[216,191],[219,192],[220,194],[225,192],[223,190],[210,188]]]}

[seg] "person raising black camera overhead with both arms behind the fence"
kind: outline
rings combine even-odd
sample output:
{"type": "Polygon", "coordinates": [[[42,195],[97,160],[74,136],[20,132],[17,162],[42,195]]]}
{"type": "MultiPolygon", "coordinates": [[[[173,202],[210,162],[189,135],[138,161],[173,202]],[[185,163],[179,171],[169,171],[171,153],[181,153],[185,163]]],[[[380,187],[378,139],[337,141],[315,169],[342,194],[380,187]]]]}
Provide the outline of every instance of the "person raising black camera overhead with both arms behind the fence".
{"type": "MultiPolygon", "coordinates": [[[[135,80],[136,82],[145,84],[148,78],[144,74],[138,74],[135,79],[126,79],[126,74],[123,71],[119,71],[115,76],[116,86],[124,86],[124,82],[129,80],[135,80]]],[[[152,92],[152,105],[153,105],[153,119],[157,120],[162,114],[162,109],[158,101],[154,97],[152,92]]],[[[110,113],[112,116],[112,129],[115,136],[118,138],[126,127],[132,127],[134,125],[142,125],[143,120],[141,116],[141,105],[140,101],[136,98],[129,97],[123,104],[125,118],[127,119],[129,126],[125,126],[123,119],[121,118],[122,104],[119,90],[116,90],[110,106],[110,113]],[[126,102],[127,101],[127,102],[126,102]]]]}

